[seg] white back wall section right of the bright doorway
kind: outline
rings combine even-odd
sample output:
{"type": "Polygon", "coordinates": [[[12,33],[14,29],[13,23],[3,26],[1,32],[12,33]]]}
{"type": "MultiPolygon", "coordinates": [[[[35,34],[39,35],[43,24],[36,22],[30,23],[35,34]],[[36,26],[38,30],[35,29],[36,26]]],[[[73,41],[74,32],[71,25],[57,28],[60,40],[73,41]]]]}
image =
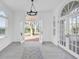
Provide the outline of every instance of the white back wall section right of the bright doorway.
{"type": "Polygon", "coordinates": [[[39,20],[42,21],[42,41],[52,41],[52,11],[40,12],[38,17],[40,18],[39,20]]]}

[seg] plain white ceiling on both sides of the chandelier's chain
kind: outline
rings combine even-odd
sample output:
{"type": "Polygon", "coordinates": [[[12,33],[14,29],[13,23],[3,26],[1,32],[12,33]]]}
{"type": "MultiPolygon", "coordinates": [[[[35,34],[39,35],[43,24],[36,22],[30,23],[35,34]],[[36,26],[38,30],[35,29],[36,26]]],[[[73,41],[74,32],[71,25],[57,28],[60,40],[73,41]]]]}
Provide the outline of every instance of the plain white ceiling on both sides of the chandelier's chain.
{"type": "MultiPolygon", "coordinates": [[[[51,10],[63,0],[34,0],[35,8],[38,11],[51,10]]],[[[27,11],[30,9],[30,0],[2,0],[2,2],[14,11],[27,11]]]]}

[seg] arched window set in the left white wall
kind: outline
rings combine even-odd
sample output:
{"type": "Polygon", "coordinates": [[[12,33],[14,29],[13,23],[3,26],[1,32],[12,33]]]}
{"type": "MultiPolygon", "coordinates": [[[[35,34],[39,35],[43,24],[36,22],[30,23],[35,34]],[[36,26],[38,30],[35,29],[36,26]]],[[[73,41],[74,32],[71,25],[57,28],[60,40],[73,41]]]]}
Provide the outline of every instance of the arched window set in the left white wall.
{"type": "Polygon", "coordinates": [[[0,38],[6,34],[6,14],[0,11],[0,38]]]}

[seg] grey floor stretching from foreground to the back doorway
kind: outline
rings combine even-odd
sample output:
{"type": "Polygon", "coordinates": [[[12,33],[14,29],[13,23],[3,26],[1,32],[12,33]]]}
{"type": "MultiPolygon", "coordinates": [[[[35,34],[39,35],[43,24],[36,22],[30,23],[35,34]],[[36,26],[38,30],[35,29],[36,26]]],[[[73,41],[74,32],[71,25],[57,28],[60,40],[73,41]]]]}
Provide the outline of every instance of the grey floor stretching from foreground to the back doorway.
{"type": "Polygon", "coordinates": [[[76,59],[51,43],[12,43],[0,52],[0,59],[76,59]]]}

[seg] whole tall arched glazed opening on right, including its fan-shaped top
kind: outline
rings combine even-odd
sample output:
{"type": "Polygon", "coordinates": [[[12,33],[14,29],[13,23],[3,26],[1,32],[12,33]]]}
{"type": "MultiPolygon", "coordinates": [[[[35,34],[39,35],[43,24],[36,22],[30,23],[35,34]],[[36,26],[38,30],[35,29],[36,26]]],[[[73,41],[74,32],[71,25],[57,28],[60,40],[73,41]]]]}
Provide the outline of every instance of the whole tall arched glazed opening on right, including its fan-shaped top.
{"type": "Polygon", "coordinates": [[[59,44],[79,56],[79,1],[71,1],[61,12],[59,44]]]}

